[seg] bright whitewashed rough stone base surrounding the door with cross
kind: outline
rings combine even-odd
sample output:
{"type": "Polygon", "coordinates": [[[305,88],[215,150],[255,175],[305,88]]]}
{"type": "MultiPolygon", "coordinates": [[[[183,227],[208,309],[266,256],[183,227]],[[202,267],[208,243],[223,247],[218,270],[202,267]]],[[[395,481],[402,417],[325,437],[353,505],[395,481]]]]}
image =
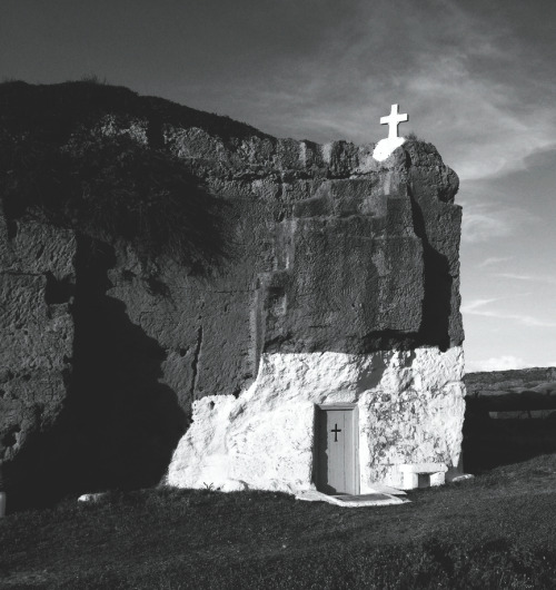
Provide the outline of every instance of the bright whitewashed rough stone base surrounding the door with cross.
{"type": "Polygon", "coordinates": [[[356,403],[360,493],[401,486],[398,465],[458,465],[465,412],[464,353],[415,351],[264,354],[237,399],[193,403],[167,483],[224,491],[300,492],[312,483],[315,404],[356,403]]]}

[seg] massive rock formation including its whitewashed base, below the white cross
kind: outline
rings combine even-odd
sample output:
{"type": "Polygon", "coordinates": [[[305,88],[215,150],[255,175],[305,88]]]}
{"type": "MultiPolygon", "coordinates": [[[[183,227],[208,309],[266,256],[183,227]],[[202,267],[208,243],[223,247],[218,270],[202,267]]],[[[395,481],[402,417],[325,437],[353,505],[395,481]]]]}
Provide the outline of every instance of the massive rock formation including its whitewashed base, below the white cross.
{"type": "Polygon", "coordinates": [[[126,89],[0,88],[0,331],[13,343],[0,453],[13,486],[153,483],[187,432],[171,483],[307,488],[315,404],[337,402],[359,410],[361,490],[399,483],[400,463],[457,465],[461,212],[431,145],[377,163],[373,144],[276,139],[126,89]],[[73,119],[60,105],[79,105],[73,119]],[[64,121],[56,139],[44,120],[64,121]],[[125,141],[171,161],[201,190],[171,195],[193,217],[216,197],[215,224],[180,236],[195,256],[14,206],[7,154],[37,128],[62,154],[125,141]]]}

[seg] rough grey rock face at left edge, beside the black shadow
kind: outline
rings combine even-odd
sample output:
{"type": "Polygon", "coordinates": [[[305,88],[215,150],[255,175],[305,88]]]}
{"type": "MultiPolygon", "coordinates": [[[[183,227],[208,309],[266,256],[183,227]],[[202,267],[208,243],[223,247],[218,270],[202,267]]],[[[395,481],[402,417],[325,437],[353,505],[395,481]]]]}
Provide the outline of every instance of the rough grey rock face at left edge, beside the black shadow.
{"type": "Polygon", "coordinates": [[[3,217],[0,236],[0,458],[24,464],[53,429],[68,394],[76,238],[33,222],[16,230],[3,217]]]}

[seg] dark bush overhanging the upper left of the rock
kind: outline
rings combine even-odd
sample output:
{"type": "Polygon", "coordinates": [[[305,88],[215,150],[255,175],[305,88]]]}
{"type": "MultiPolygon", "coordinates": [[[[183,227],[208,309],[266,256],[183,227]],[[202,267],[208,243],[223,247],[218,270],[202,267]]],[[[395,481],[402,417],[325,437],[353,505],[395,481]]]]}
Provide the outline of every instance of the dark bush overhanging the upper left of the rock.
{"type": "MultiPolygon", "coordinates": [[[[152,147],[99,125],[110,101],[96,102],[96,92],[111,92],[118,108],[132,102],[132,92],[79,82],[89,92],[85,105],[66,108],[66,89],[37,105],[40,96],[19,83],[2,89],[10,108],[0,127],[0,198],[9,219],[27,215],[110,243],[125,239],[143,256],[170,255],[196,268],[222,257],[222,201],[163,142],[152,147]]],[[[129,126],[130,116],[113,118],[129,126]]]]}

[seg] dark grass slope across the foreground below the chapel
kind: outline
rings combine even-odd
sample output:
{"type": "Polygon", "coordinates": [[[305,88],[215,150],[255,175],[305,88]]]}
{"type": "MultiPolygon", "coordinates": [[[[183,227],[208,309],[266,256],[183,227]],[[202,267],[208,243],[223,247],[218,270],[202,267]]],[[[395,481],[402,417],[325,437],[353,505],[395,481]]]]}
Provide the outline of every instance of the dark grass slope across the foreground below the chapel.
{"type": "Polygon", "coordinates": [[[2,588],[550,588],[556,456],[341,509],[268,492],[112,492],[0,520],[2,588]]]}

